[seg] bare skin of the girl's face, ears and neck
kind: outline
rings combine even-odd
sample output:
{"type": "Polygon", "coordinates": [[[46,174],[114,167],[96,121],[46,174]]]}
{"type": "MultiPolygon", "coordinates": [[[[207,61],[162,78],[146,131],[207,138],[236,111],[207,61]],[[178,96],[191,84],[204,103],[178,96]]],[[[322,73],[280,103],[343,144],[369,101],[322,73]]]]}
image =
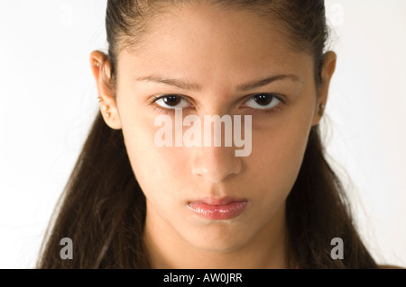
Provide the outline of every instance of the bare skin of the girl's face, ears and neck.
{"type": "MultiPolygon", "coordinates": [[[[101,112],[110,128],[123,130],[146,196],[144,241],[152,268],[285,268],[285,202],[309,131],[320,121],[318,106],[327,103],[336,54],[325,54],[317,87],[312,56],[291,49],[286,36],[254,13],[208,4],[171,9],[150,23],[142,49],[119,53],[116,98],[101,76],[104,70],[94,65],[106,56],[100,51],[90,56],[101,112]],[[200,89],[136,81],[149,75],[183,79],[200,89]],[[276,75],[298,80],[236,90],[276,75]],[[259,93],[283,94],[286,104],[274,102],[277,112],[264,114],[247,102],[259,93]],[[151,96],[161,94],[185,97],[183,117],[252,115],[251,155],[235,157],[235,147],[156,147],[154,134],[161,127],[154,119],[161,113],[152,108],[159,105],[151,104],[151,96]],[[108,118],[103,105],[109,106],[108,118]],[[247,205],[235,219],[206,220],[187,205],[202,197],[245,199],[247,205]]],[[[109,75],[108,61],[105,72],[109,75]]]]}

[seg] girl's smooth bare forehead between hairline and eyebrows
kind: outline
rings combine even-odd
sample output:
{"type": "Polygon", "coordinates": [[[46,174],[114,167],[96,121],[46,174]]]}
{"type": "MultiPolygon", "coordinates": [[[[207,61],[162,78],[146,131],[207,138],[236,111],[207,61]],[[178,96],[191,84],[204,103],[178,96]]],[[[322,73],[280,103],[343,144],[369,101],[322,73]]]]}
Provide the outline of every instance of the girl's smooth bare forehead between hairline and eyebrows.
{"type": "Polygon", "coordinates": [[[300,67],[303,59],[309,64],[309,55],[292,49],[272,19],[211,4],[165,9],[133,48],[120,53],[120,66],[134,72],[158,68],[180,77],[263,76],[281,67],[300,67]]]}

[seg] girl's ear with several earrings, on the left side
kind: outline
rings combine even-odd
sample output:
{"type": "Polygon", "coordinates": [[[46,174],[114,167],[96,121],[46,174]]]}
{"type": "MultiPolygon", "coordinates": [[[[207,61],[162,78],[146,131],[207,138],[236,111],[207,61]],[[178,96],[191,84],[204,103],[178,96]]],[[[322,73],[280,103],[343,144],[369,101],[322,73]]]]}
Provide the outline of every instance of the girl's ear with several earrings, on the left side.
{"type": "Polygon", "coordinates": [[[122,124],[115,103],[115,89],[111,85],[110,61],[103,52],[95,50],[90,54],[90,66],[96,80],[100,112],[111,129],[120,130],[122,124]]]}

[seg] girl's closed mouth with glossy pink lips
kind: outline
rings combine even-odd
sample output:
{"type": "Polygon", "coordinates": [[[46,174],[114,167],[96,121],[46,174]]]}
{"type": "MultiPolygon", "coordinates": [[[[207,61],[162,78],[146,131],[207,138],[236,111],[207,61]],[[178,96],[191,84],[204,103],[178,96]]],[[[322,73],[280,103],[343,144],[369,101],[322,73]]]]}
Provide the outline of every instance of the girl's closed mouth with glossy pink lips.
{"type": "Polygon", "coordinates": [[[204,198],[189,202],[188,207],[206,220],[231,220],[245,211],[246,204],[246,200],[204,198]]]}

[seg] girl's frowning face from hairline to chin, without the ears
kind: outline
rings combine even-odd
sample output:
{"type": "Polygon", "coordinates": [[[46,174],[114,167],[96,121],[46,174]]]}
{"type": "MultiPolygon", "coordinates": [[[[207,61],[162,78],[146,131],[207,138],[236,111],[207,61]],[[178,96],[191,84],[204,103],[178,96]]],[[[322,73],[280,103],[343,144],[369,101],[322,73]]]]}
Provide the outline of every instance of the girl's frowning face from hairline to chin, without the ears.
{"type": "Polygon", "coordinates": [[[233,250],[284,209],[319,120],[313,58],[254,13],[210,5],[168,12],[150,23],[139,49],[118,55],[114,121],[146,197],[146,225],[192,247],[233,250]],[[162,95],[176,96],[152,103],[162,95]],[[243,127],[251,115],[251,154],[235,157],[224,142],[158,147],[155,119],[170,112],[175,130],[174,108],[202,123],[204,115],[241,115],[243,127]],[[200,203],[218,216],[197,213],[200,203]]]}

